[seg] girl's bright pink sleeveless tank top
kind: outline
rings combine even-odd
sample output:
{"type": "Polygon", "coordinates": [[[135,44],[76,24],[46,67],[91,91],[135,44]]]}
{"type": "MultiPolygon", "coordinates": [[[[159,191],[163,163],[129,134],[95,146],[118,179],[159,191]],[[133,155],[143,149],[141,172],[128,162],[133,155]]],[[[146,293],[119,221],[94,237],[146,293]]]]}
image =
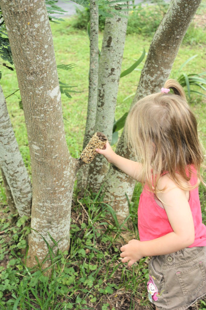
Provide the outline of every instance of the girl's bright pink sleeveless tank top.
{"type": "MultiPolygon", "coordinates": [[[[191,176],[191,185],[196,184],[195,175],[191,176]]],[[[198,188],[190,191],[189,205],[195,227],[195,241],[189,246],[206,246],[206,226],[202,223],[202,213],[198,188]]],[[[153,193],[144,187],[139,198],[138,230],[140,241],[152,240],[173,232],[165,209],[157,205],[153,193]]]]}

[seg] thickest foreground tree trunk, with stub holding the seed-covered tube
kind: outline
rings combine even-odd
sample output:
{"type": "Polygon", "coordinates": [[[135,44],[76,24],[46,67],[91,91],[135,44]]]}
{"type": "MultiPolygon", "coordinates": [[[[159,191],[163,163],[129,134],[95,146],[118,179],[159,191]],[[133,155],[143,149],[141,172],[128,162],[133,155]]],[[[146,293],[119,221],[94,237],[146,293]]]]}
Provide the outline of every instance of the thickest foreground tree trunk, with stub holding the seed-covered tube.
{"type": "Polygon", "coordinates": [[[78,162],[68,153],[52,33],[44,0],[1,0],[24,107],[32,166],[28,266],[48,253],[39,233],[69,248],[73,184],[78,162]],[[39,232],[39,233],[38,233],[39,232]]]}

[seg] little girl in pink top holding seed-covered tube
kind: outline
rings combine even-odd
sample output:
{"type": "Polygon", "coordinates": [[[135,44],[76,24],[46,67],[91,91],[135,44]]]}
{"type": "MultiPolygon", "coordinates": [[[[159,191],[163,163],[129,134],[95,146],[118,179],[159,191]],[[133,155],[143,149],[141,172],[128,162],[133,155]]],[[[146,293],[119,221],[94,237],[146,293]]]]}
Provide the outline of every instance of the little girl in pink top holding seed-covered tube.
{"type": "Polygon", "coordinates": [[[204,155],[182,87],[172,79],[164,87],[136,102],[127,117],[128,145],[141,162],[118,156],[109,143],[96,151],[144,185],[140,241],[121,247],[122,262],[130,267],[152,256],[150,301],[160,310],[184,310],[206,295],[206,226],[198,194],[204,155]]]}

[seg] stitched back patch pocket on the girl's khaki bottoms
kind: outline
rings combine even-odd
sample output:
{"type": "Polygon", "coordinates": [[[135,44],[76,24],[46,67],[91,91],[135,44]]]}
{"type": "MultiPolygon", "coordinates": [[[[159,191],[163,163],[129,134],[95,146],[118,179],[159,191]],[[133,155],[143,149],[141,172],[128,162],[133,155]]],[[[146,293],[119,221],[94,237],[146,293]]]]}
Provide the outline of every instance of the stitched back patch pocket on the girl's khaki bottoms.
{"type": "Polygon", "coordinates": [[[203,262],[176,272],[176,276],[184,295],[195,294],[206,282],[203,262]]]}

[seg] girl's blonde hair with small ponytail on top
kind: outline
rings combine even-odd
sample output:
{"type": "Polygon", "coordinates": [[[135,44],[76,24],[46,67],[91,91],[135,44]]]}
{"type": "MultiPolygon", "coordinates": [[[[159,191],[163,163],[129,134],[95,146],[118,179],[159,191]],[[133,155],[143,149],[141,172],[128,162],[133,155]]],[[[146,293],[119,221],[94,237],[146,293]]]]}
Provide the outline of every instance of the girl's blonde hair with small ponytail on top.
{"type": "Polygon", "coordinates": [[[141,182],[156,195],[165,190],[157,188],[165,172],[183,190],[195,188],[200,181],[205,184],[200,174],[205,166],[196,118],[177,81],[169,79],[164,87],[170,88],[170,93],[148,95],[134,104],[125,128],[128,146],[143,166],[141,182]],[[197,171],[194,186],[189,184],[191,166],[197,171]]]}

